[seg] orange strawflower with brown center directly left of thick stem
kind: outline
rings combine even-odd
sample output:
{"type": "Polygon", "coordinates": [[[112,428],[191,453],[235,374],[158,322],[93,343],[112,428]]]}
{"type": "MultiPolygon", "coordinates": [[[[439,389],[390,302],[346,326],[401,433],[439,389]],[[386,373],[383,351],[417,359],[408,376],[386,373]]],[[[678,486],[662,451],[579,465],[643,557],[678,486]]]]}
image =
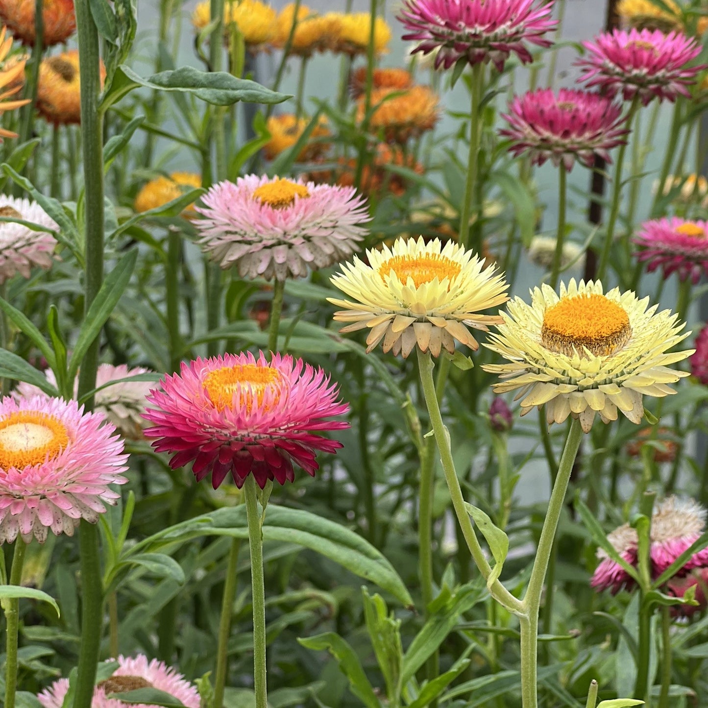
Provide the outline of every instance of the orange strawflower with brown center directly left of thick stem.
{"type": "MultiPolygon", "coordinates": [[[[103,81],[105,67],[101,62],[101,86],[103,81]]],[[[42,59],[37,86],[37,110],[47,122],[55,125],[81,122],[78,50],[42,59]]]]}

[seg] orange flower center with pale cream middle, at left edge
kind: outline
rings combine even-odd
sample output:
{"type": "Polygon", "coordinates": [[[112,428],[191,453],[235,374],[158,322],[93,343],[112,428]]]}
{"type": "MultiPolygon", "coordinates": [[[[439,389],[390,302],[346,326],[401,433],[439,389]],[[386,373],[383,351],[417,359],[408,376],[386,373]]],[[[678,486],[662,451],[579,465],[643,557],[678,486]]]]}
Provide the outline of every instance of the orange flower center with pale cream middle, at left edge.
{"type": "Polygon", "coordinates": [[[0,469],[23,469],[55,459],[69,444],[64,424],[49,413],[17,411],[0,421],[0,469]]]}

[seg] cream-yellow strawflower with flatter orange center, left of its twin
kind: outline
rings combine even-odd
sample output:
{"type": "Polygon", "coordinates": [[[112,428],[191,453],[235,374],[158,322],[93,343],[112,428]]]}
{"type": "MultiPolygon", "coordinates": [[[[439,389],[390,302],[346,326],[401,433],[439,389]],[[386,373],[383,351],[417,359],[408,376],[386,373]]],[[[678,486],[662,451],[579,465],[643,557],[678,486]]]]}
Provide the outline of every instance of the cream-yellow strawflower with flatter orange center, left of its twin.
{"type": "Polygon", "coordinates": [[[397,239],[392,248],[367,251],[367,261],[354,256],[331,281],[352,300],[328,298],[346,309],[334,319],[351,322],[341,329],[353,332],[368,327],[367,352],[383,339],[384,352],[403,353],[413,347],[434,356],[440,348],[455,351],[455,340],[476,350],[479,344],[468,327],[486,331],[498,324],[496,315],[479,314],[508,300],[508,285],[496,268],[484,268],[484,258],[474,256],[452,241],[397,239]]]}

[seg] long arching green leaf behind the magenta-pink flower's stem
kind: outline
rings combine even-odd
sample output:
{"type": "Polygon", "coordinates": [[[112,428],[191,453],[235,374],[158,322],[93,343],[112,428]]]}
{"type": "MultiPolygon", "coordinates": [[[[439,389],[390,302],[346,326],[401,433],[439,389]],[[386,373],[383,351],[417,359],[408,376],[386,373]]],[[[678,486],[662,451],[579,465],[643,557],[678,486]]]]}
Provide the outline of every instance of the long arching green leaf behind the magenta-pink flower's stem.
{"type": "MultiPolygon", "coordinates": [[[[205,535],[248,538],[244,506],[217,509],[169,527],[136,544],[132,552],[154,551],[205,535]]],[[[376,583],[406,607],[413,606],[409,591],[382,553],[360,535],[333,521],[302,509],[269,504],[263,539],[312,549],[360,578],[376,583]]]]}

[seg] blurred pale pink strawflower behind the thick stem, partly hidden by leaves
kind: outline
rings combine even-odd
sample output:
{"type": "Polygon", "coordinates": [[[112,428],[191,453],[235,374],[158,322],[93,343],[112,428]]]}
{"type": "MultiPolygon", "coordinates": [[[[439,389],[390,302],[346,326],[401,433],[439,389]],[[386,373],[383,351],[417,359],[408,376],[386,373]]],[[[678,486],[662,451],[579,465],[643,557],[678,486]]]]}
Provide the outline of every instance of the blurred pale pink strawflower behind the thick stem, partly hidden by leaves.
{"type": "MultiPolygon", "coordinates": [[[[96,392],[93,409],[97,413],[103,413],[106,419],[113,423],[118,433],[129,440],[142,438],[142,428],[148,424],[142,417],[142,411],[145,408],[147,394],[150,392],[152,383],[149,381],[124,381],[110,384],[110,382],[147,373],[151,372],[141,366],[129,369],[125,364],[118,366],[101,364],[96,372],[96,388],[101,390],[96,392]],[[103,386],[105,388],[101,388],[103,386]]],[[[44,374],[52,386],[57,385],[57,377],[51,369],[45,369],[44,374]]],[[[74,396],[78,391],[79,377],[77,375],[74,381],[74,396]]],[[[30,396],[50,397],[42,389],[25,382],[17,384],[12,396],[16,399],[30,398],[30,396]]]]}

